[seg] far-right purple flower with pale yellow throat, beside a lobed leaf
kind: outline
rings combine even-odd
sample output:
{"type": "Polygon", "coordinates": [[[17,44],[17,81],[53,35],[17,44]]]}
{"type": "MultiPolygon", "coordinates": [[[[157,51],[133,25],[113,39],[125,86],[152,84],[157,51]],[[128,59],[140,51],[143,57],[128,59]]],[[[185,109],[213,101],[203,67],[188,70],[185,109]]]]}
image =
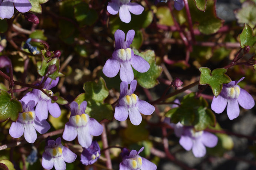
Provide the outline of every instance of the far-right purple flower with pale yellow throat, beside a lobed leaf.
{"type": "Polygon", "coordinates": [[[239,116],[239,105],[244,109],[253,108],[255,102],[252,96],[237,85],[243,79],[244,77],[239,81],[232,81],[223,85],[220,95],[217,98],[213,97],[211,109],[214,112],[222,113],[227,106],[227,116],[229,116],[230,120],[233,120],[239,116]]]}

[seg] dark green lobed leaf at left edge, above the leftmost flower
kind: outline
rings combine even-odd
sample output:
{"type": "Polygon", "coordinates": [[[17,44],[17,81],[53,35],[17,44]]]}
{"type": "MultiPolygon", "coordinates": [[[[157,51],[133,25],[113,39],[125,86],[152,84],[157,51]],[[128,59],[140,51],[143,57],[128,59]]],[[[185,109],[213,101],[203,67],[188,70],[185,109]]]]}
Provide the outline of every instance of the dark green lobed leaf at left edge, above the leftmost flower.
{"type": "Polygon", "coordinates": [[[16,121],[21,112],[22,104],[16,99],[12,99],[7,91],[0,89],[0,122],[9,118],[16,121]]]}

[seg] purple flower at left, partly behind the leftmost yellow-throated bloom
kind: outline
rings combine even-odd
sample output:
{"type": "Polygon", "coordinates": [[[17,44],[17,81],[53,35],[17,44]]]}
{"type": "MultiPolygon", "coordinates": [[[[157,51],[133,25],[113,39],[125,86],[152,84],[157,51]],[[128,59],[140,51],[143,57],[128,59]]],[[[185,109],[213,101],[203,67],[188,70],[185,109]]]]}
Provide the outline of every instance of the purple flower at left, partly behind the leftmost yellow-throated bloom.
{"type": "MultiPolygon", "coordinates": [[[[59,77],[57,77],[56,80],[47,78],[43,89],[50,90],[51,88],[55,87],[58,82],[59,77]]],[[[42,81],[40,84],[42,84],[42,81]]],[[[52,91],[50,92],[52,93],[52,91]]],[[[36,116],[39,120],[47,119],[48,110],[53,117],[58,118],[60,116],[61,111],[59,105],[57,103],[52,103],[52,99],[38,89],[33,89],[31,92],[28,92],[21,100],[25,103],[33,100],[37,103],[36,116]]]]}

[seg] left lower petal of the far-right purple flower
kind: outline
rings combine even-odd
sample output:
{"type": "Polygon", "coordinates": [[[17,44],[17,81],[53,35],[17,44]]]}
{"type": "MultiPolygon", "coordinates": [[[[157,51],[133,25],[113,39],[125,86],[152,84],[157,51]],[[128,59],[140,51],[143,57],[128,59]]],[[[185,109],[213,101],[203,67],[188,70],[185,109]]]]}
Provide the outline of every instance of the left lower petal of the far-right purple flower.
{"type": "Polygon", "coordinates": [[[213,101],[211,102],[211,109],[215,113],[222,113],[227,106],[227,99],[223,98],[221,94],[219,96],[214,97],[213,96],[213,101]]]}

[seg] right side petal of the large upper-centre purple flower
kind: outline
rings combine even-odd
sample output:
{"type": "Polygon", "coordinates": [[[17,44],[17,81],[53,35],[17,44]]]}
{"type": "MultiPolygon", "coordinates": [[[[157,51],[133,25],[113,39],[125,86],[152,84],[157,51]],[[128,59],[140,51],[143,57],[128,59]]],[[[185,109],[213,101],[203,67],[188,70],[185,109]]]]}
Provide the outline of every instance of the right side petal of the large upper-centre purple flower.
{"type": "Polygon", "coordinates": [[[150,68],[148,62],[143,59],[141,56],[134,54],[131,58],[132,67],[138,72],[147,72],[150,68]]]}

